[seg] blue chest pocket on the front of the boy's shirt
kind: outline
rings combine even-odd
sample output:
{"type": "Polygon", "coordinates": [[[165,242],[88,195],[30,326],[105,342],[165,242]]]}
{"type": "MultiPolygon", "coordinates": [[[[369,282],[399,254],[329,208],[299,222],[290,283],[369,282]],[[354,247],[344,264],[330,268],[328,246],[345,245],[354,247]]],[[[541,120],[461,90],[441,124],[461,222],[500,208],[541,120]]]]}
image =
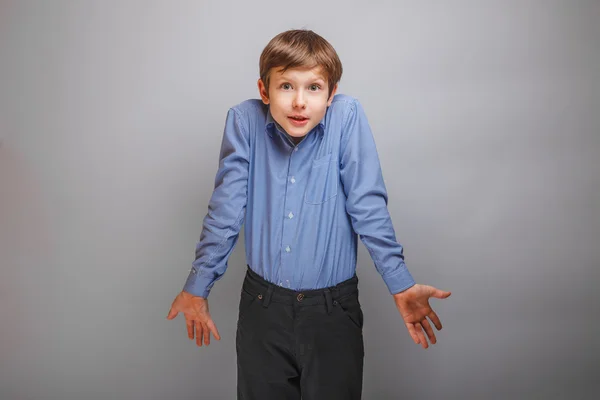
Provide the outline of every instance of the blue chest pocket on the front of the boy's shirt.
{"type": "Polygon", "coordinates": [[[337,196],[339,175],[333,153],[313,160],[304,192],[307,204],[323,204],[337,196]]]}

